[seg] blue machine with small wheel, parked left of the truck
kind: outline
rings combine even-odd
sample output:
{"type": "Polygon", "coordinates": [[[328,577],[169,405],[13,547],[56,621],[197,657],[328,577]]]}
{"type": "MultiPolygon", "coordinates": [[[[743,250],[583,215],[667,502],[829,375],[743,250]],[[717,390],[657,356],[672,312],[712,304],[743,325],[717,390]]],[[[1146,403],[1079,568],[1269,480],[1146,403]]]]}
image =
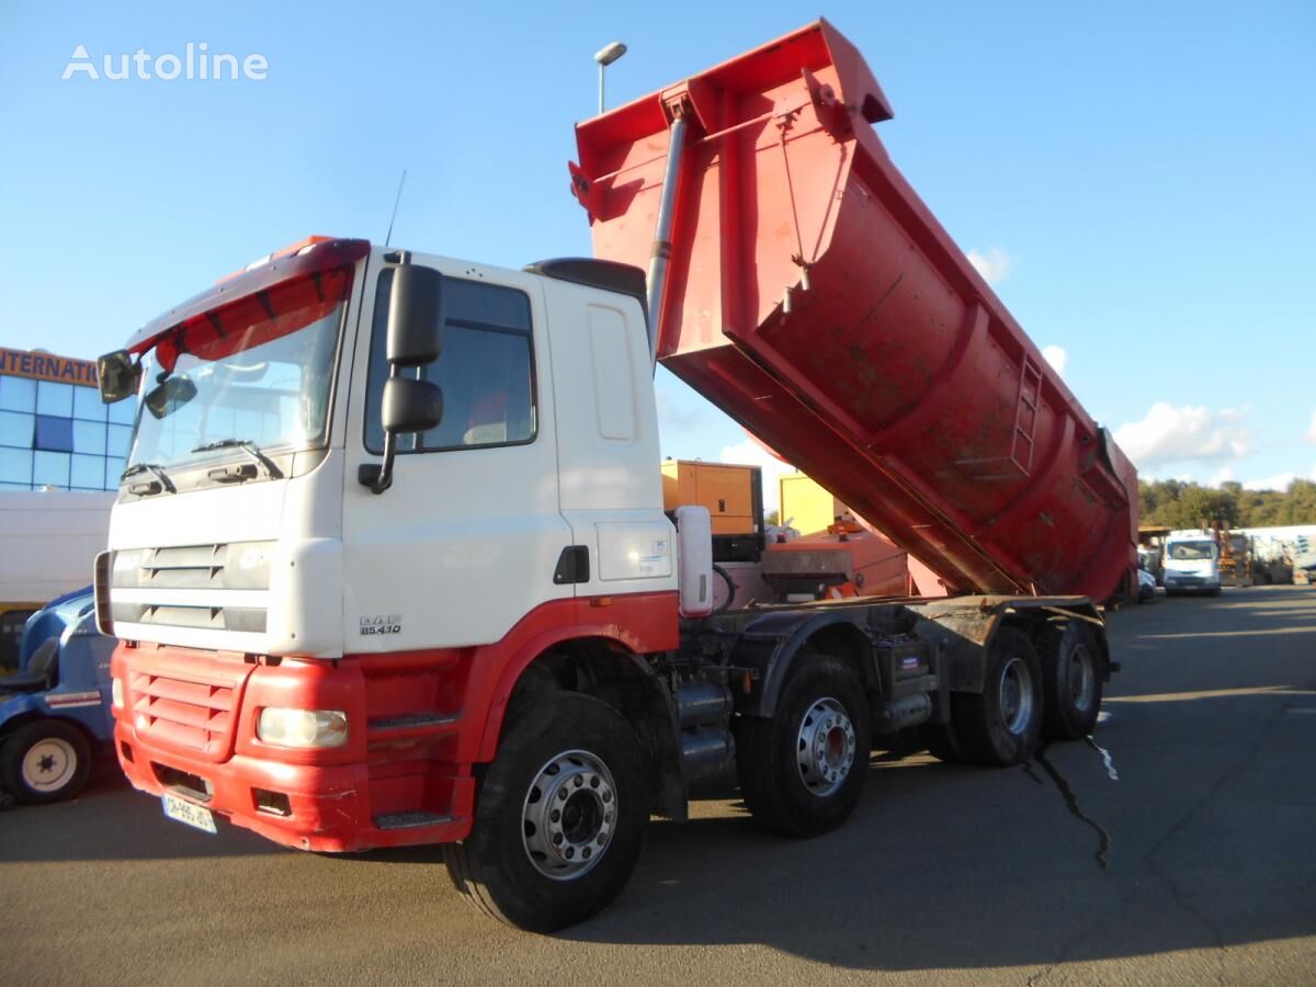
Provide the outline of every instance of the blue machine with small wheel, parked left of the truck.
{"type": "Polygon", "coordinates": [[[18,671],[0,676],[0,790],[21,803],[71,799],[114,736],[109,658],[91,587],[53,600],[22,629],[18,671]]]}

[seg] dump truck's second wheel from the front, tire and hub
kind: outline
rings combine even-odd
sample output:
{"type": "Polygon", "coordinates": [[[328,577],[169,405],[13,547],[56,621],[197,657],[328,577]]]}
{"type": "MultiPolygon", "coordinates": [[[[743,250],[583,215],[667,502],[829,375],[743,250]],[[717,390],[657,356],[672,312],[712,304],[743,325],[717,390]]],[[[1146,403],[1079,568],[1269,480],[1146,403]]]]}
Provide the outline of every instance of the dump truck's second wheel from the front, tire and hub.
{"type": "Polygon", "coordinates": [[[755,821],[783,836],[840,826],[869,774],[863,688],[842,662],[801,651],[771,719],[737,717],[736,774],[755,821]]]}

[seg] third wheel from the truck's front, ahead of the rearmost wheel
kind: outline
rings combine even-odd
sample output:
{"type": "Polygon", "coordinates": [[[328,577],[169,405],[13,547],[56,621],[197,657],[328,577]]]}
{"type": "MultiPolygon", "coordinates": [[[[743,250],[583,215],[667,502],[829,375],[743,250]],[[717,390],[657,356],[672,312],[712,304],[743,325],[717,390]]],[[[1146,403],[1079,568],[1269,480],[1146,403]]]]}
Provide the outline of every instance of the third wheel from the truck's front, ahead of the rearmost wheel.
{"type": "Polygon", "coordinates": [[[1001,628],[986,653],[983,691],[955,692],[955,730],[971,761],[1021,765],[1037,746],[1042,726],[1041,670],[1023,630],[1001,628]]]}

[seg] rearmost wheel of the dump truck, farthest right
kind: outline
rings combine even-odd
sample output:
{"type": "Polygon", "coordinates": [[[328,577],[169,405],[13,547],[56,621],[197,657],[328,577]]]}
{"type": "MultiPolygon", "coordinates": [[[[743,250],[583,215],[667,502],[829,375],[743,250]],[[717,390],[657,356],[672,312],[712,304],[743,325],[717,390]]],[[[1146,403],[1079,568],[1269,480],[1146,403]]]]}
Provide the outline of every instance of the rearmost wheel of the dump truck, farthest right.
{"type": "Polygon", "coordinates": [[[1042,736],[1078,740],[1101,709],[1100,654],[1080,621],[1045,624],[1033,638],[1042,666],[1042,736]]]}

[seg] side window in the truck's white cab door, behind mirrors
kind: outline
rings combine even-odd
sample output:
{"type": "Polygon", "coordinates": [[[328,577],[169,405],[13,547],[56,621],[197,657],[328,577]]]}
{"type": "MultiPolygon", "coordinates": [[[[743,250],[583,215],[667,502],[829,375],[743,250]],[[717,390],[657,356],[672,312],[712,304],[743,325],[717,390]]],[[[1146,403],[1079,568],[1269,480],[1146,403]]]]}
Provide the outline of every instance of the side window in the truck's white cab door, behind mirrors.
{"type": "MultiPolygon", "coordinates": [[[[388,379],[386,342],[393,268],[375,286],[366,388],[366,449],[383,453],[379,401],[388,379]]],[[[443,420],[399,436],[399,453],[437,453],[534,441],[534,350],[525,292],[449,278],[443,283],[443,354],[418,372],[443,391],[443,420]]]]}

